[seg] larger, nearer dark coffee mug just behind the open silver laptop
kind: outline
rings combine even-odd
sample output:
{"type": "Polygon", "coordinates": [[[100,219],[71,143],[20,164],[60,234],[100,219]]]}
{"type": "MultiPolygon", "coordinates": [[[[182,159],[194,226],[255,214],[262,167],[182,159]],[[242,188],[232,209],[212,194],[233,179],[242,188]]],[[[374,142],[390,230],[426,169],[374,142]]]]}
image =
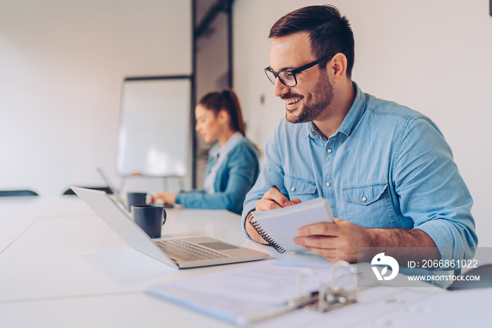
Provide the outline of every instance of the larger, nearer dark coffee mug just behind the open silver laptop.
{"type": "Polygon", "coordinates": [[[160,238],[162,225],[166,222],[166,210],[158,205],[131,206],[134,221],[150,238],[160,238]]]}

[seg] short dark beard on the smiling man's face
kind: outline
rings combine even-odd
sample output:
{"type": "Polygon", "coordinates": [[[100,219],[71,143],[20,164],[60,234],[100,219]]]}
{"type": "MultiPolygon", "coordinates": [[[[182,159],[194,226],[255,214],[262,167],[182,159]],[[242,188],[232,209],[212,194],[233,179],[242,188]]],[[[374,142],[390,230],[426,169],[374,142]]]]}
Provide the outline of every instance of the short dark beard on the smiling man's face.
{"type": "MultiPolygon", "coordinates": [[[[296,94],[292,91],[283,95],[282,99],[294,99],[302,97],[300,94],[296,94]]],[[[288,115],[288,111],[285,112],[285,119],[291,123],[304,123],[316,120],[323,111],[325,111],[333,100],[333,86],[328,80],[328,74],[321,70],[318,83],[314,87],[312,92],[309,92],[304,100],[304,105],[301,108],[301,113],[296,116],[288,115]]]]}

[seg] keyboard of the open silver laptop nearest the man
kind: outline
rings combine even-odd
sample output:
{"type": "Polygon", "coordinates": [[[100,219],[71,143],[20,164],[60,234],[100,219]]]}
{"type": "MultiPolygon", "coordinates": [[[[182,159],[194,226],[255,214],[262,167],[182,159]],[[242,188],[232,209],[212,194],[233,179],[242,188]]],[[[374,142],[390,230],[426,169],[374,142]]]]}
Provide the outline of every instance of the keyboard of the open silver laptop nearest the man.
{"type": "Polygon", "coordinates": [[[164,253],[167,253],[167,255],[179,258],[180,260],[196,261],[231,257],[183,240],[161,240],[155,241],[155,244],[157,244],[164,253]]]}

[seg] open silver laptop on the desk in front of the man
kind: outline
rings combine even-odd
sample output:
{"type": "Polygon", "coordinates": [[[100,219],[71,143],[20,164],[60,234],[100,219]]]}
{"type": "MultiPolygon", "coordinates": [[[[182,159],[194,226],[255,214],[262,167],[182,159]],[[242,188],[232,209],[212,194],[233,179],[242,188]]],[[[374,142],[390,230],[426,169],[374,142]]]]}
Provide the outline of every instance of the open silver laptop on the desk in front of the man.
{"type": "Polygon", "coordinates": [[[105,191],[71,187],[131,247],[162,263],[184,269],[268,258],[268,254],[207,236],[153,240],[105,191]]]}

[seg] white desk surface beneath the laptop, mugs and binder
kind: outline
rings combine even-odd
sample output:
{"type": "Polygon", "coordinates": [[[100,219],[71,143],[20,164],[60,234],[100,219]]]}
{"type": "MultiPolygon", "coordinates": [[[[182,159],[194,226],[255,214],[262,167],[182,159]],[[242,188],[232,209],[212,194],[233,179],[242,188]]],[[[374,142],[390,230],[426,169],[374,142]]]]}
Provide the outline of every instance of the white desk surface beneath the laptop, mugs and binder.
{"type": "MultiPolygon", "coordinates": [[[[75,196],[2,199],[0,213],[0,327],[231,327],[145,291],[150,284],[249,263],[175,270],[129,248],[75,196]]],[[[207,235],[275,258],[325,261],[309,254],[280,255],[247,241],[239,215],[225,210],[171,209],[167,215],[164,238],[207,235]]],[[[361,324],[354,315],[357,305],[351,307],[326,318],[337,327],[361,324]]],[[[374,310],[368,324],[377,319],[374,310]]]]}

